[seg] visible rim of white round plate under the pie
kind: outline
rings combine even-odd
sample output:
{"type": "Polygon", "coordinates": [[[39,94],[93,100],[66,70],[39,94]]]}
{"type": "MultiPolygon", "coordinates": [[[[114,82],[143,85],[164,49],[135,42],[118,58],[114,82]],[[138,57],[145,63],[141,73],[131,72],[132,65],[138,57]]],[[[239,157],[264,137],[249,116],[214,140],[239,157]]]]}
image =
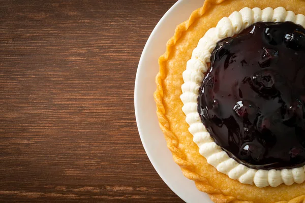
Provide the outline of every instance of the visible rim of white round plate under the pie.
{"type": "Polygon", "coordinates": [[[159,72],[158,58],[165,52],[166,42],[174,35],[178,24],[187,20],[192,11],[201,7],[203,0],[179,0],[159,21],[144,47],[135,83],[135,113],[146,154],[163,181],[186,202],[212,203],[207,194],[200,192],[195,183],[182,174],[173,161],[159,127],[154,91],[159,72]]]}

